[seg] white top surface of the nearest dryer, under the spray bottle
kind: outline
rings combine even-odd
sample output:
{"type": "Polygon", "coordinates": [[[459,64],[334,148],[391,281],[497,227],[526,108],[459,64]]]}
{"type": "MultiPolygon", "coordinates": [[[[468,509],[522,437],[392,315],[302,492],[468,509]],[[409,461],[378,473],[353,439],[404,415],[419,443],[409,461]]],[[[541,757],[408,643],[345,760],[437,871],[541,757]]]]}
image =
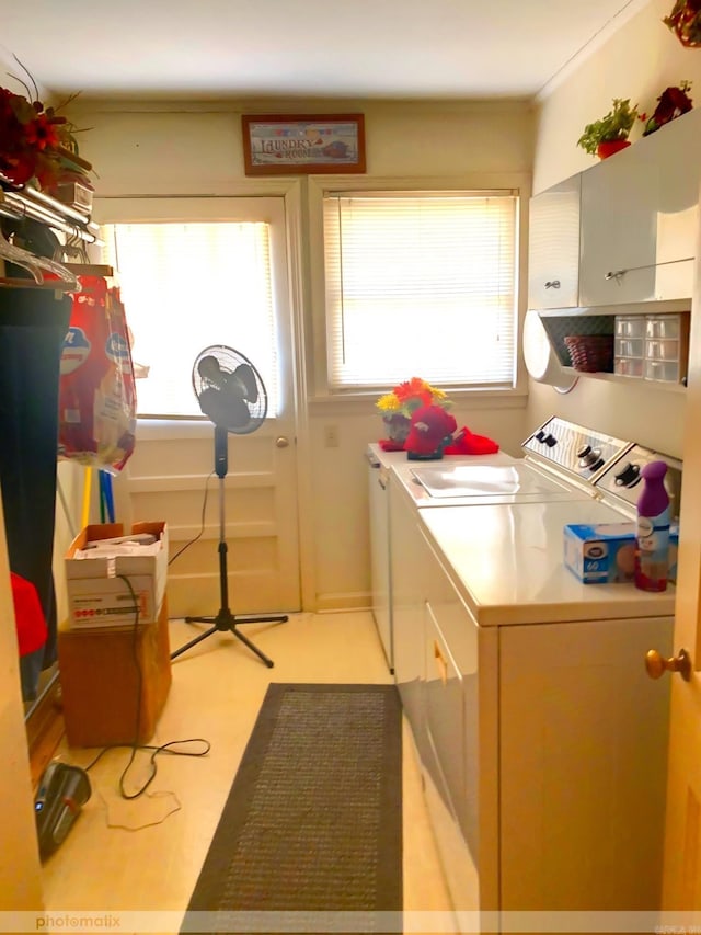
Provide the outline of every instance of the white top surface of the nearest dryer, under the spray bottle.
{"type": "Polygon", "coordinates": [[[563,560],[568,523],[621,522],[595,500],[420,510],[429,540],[481,626],[674,614],[675,589],[583,584],[563,560]]]}

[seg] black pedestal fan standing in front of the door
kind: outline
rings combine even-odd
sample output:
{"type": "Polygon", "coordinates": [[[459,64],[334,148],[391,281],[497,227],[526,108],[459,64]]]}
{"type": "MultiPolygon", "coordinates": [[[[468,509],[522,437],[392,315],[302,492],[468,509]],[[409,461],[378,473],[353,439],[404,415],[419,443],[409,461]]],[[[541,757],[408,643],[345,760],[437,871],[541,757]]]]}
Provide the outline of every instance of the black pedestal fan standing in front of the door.
{"type": "Polygon", "coordinates": [[[221,604],[215,617],[185,617],[185,622],[212,624],[195,639],[171,653],[171,659],[185,652],[218,630],[229,630],[245,643],[268,669],[274,663],[250,639],[239,632],[240,624],[285,623],[288,617],[237,617],[229,609],[227,570],[227,533],[225,516],[225,477],[229,469],[229,432],[249,435],[260,429],[267,413],[267,392],[261,375],[240,351],[216,344],[202,351],[193,366],[193,388],[205,415],[215,426],[215,471],[219,478],[219,586],[221,604]]]}

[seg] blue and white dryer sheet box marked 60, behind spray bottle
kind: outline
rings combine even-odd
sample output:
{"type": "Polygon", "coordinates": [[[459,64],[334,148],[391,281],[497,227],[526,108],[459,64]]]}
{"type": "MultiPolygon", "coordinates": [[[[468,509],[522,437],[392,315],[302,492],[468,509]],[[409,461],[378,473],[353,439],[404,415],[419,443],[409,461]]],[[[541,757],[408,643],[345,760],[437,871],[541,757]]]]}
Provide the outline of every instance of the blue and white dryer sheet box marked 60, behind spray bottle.
{"type": "MultiPolygon", "coordinates": [[[[669,532],[669,580],[677,578],[679,527],[669,532]]],[[[630,584],[635,574],[634,523],[573,523],[564,528],[564,561],[584,584],[630,584]]]]}

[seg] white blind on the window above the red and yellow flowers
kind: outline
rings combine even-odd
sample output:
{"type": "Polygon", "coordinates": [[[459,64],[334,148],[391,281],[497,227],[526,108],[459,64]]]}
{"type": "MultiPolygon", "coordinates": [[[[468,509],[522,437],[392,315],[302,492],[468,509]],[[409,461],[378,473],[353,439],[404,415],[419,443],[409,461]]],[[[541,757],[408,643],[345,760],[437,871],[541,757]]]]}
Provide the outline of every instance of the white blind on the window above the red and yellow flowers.
{"type": "Polygon", "coordinates": [[[332,389],[515,383],[517,196],[327,193],[332,389]]]}

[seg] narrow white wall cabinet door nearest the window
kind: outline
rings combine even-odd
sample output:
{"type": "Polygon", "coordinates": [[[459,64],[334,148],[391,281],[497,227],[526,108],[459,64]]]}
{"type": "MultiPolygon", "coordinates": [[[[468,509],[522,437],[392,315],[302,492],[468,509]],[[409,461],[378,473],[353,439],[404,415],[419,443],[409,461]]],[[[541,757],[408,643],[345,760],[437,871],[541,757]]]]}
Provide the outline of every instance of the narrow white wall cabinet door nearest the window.
{"type": "Polygon", "coordinates": [[[577,305],[579,272],[579,175],[530,199],[528,307],[577,305]]]}

